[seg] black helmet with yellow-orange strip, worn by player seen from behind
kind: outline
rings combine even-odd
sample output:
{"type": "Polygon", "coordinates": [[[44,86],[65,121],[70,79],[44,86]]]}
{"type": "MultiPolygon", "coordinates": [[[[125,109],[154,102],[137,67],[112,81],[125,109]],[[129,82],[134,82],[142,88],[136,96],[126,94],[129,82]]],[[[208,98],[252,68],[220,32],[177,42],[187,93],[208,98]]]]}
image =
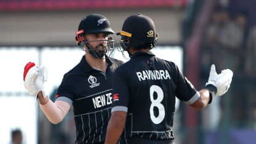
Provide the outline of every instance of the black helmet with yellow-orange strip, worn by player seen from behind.
{"type": "Polygon", "coordinates": [[[142,14],[130,15],[126,18],[122,25],[122,30],[117,34],[121,35],[118,50],[122,52],[126,51],[128,47],[139,49],[140,47],[146,46],[143,48],[152,49],[156,46],[158,39],[153,20],[142,14]]]}

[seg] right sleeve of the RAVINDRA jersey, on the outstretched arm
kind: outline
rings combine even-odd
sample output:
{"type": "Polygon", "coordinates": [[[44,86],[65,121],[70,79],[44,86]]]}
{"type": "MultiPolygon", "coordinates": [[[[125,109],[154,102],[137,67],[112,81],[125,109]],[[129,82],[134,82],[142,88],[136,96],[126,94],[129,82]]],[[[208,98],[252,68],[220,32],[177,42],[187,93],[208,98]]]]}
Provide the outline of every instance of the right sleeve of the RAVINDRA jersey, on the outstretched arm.
{"type": "Polygon", "coordinates": [[[186,104],[191,105],[200,97],[199,92],[194,88],[193,84],[183,76],[178,67],[175,67],[177,74],[177,89],[175,91],[176,97],[186,104]]]}

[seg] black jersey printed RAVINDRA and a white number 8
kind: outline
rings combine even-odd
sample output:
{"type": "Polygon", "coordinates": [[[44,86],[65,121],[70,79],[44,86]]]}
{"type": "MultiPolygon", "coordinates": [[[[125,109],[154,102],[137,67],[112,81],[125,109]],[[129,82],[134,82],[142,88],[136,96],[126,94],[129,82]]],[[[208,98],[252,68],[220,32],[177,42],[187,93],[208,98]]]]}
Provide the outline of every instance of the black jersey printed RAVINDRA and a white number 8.
{"type": "Polygon", "coordinates": [[[114,73],[113,111],[126,111],[126,138],[172,140],[175,97],[194,103],[199,94],[177,65],[137,52],[114,73]]]}

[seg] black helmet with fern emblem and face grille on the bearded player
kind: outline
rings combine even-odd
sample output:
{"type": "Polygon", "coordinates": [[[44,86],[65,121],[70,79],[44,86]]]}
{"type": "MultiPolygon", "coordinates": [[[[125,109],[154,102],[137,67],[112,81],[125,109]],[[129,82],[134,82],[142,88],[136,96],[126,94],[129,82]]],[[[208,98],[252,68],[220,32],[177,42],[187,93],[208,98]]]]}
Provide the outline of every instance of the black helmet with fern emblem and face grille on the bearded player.
{"type": "Polygon", "coordinates": [[[104,55],[107,54],[109,56],[113,52],[114,40],[111,38],[110,34],[114,34],[114,31],[110,27],[109,20],[100,14],[90,14],[82,18],[79,23],[78,31],[76,31],[76,42],[82,50],[86,51],[84,47],[84,45],[86,45],[88,47],[88,52],[92,54],[92,56],[95,58],[102,58],[104,55]],[[94,41],[87,41],[87,39],[84,39],[84,35],[98,33],[109,34],[109,36],[106,40],[100,40],[102,42],[107,42],[107,46],[103,48],[105,50],[99,50],[97,52],[90,46],[90,42],[94,41]]]}

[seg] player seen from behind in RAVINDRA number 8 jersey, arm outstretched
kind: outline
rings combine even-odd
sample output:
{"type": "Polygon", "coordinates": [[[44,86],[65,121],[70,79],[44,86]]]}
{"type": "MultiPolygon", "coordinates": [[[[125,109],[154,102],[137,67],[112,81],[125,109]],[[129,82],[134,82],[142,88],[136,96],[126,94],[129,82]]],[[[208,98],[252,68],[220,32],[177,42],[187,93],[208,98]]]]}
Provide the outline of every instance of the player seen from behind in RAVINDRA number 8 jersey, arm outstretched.
{"type": "Polygon", "coordinates": [[[122,132],[129,144],[174,143],[175,97],[201,110],[230,87],[231,70],[217,74],[212,65],[206,86],[198,91],[174,62],[156,57],[150,50],[158,34],[146,15],[126,18],[118,34],[119,48],[130,60],[114,72],[106,144],[117,143],[122,132]]]}

